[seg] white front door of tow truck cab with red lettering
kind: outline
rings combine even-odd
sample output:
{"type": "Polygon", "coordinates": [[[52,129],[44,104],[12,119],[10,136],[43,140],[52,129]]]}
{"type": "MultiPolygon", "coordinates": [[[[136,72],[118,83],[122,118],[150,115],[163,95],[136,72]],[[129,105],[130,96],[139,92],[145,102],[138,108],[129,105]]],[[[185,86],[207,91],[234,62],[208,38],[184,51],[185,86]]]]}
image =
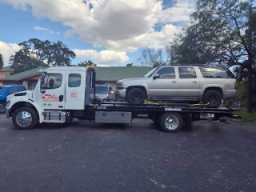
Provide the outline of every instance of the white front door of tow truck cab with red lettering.
{"type": "Polygon", "coordinates": [[[65,105],[65,71],[50,71],[43,79],[42,92],[38,91],[38,104],[44,110],[63,110],[65,105]]]}

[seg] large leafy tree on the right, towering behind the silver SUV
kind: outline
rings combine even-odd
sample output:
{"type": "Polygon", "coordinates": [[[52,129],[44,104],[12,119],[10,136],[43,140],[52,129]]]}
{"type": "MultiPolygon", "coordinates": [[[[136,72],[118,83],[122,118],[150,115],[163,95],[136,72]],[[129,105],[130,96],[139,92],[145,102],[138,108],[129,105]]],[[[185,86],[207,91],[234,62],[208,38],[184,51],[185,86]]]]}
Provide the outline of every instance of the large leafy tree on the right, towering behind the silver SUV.
{"type": "Polygon", "coordinates": [[[247,109],[252,112],[256,11],[252,1],[198,0],[178,49],[178,60],[218,62],[248,70],[247,109]],[[192,59],[193,60],[193,59],[192,59]]]}

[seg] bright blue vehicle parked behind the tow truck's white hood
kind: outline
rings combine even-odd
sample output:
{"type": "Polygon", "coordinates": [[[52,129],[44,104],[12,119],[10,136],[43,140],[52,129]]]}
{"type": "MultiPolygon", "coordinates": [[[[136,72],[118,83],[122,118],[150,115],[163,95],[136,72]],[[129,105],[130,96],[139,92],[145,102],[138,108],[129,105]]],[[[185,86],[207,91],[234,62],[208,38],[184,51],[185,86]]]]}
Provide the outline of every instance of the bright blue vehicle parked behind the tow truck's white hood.
{"type": "Polygon", "coordinates": [[[0,87],[0,114],[6,111],[6,98],[9,94],[15,94],[26,90],[26,86],[1,86],[0,87]]]}

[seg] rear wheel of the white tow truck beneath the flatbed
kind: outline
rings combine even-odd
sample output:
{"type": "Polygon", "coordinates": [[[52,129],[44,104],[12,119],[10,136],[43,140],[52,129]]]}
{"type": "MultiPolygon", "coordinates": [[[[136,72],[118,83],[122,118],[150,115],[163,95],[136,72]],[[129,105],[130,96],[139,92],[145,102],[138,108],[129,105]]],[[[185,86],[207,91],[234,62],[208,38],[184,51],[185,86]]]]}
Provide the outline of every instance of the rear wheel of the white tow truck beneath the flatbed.
{"type": "Polygon", "coordinates": [[[159,124],[160,124],[163,131],[165,131],[167,133],[176,133],[176,132],[178,132],[179,130],[182,129],[183,119],[182,119],[182,116],[178,113],[164,113],[159,118],[159,124]],[[171,128],[166,126],[167,118],[170,118],[170,117],[176,123],[176,126],[171,127],[171,128]]]}

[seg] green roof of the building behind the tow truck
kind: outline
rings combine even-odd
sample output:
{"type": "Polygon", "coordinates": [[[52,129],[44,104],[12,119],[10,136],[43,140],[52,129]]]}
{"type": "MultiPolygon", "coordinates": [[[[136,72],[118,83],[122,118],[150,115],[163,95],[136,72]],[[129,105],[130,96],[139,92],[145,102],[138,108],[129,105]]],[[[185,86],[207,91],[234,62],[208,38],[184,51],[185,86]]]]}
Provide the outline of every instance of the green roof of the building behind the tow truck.
{"type": "MultiPolygon", "coordinates": [[[[77,67],[77,66],[75,66],[77,67]]],[[[24,78],[30,78],[34,75],[40,74],[41,70],[45,70],[48,67],[38,67],[33,70],[27,70],[19,74],[13,74],[10,76],[6,76],[4,78],[0,78],[0,81],[19,81],[24,78]]],[[[60,67],[53,67],[52,69],[56,70],[60,67]]],[[[71,68],[70,68],[71,69],[71,68]]],[[[73,67],[72,67],[73,69],[73,67]]],[[[75,69],[75,68],[74,68],[75,69]]],[[[114,67],[98,67],[96,68],[96,80],[98,81],[110,81],[115,82],[124,78],[141,78],[147,72],[150,71],[150,67],[147,66],[132,66],[132,67],[124,67],[124,66],[114,66],[114,67]]]]}

